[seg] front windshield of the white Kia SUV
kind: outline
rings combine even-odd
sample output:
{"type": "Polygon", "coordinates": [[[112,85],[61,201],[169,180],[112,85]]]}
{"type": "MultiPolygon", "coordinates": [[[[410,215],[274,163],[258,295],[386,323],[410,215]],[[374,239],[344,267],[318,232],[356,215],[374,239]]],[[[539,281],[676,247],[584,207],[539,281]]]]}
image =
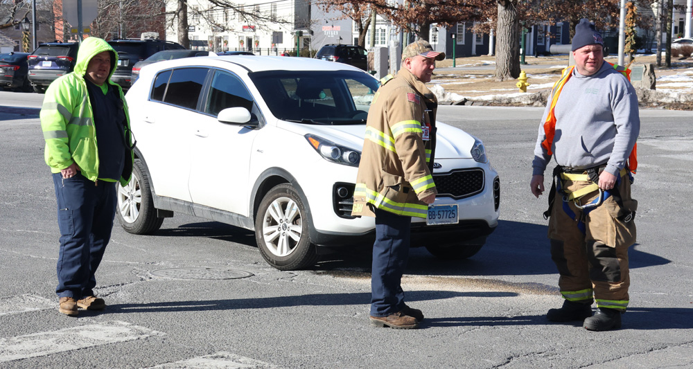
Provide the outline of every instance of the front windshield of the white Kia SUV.
{"type": "Polygon", "coordinates": [[[358,71],[263,71],[250,73],[281,120],[306,124],[362,124],[378,80],[358,71]]]}

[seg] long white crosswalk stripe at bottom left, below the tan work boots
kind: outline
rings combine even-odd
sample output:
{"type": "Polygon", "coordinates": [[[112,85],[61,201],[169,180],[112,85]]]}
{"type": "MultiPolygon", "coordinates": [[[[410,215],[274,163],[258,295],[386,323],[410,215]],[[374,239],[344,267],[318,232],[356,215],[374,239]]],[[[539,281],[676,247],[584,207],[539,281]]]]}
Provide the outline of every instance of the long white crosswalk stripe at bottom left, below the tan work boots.
{"type": "Polygon", "coordinates": [[[164,333],[123,321],[107,321],[53,332],[26,334],[0,339],[0,363],[162,335],[164,333]]]}

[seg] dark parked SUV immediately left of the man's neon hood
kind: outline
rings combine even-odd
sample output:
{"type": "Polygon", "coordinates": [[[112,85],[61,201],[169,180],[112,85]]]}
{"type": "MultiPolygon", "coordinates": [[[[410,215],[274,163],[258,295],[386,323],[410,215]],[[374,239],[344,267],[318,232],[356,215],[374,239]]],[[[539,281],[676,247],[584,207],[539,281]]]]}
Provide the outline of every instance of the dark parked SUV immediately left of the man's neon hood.
{"type": "Polygon", "coordinates": [[[46,42],[27,58],[29,82],[38,93],[61,75],[70,73],[77,62],[77,42],[46,42]]]}

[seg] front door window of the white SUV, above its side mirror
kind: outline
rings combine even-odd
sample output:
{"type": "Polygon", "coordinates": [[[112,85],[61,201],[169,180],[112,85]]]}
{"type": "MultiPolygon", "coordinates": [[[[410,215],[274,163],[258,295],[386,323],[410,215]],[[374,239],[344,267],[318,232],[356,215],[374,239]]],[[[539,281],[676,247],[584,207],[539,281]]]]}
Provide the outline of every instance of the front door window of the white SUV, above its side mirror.
{"type": "Polygon", "coordinates": [[[220,111],[229,107],[245,107],[252,111],[253,98],[238,77],[218,71],[214,74],[204,111],[217,116],[220,111]]]}

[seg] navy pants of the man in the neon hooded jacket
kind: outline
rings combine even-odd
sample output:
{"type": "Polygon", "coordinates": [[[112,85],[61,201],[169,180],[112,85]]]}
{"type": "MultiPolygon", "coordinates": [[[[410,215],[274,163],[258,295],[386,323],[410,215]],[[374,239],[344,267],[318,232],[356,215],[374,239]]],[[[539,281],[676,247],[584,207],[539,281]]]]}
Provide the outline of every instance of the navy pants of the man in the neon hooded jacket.
{"type": "Polygon", "coordinates": [[[79,299],[94,296],[94,273],[103,258],[116,212],[116,183],[89,181],[78,173],[71,178],[53,174],[58,200],[60,252],[59,297],[79,299]]]}

